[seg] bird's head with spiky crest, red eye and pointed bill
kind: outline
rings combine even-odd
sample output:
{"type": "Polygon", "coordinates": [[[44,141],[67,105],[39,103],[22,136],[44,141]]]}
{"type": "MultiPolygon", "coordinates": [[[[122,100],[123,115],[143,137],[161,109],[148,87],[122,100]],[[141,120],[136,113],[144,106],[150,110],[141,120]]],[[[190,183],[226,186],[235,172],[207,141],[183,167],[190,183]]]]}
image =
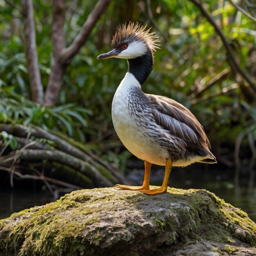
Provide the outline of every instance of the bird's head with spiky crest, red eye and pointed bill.
{"type": "Polygon", "coordinates": [[[158,36],[155,32],[150,33],[147,26],[139,25],[138,22],[123,24],[112,38],[112,51],[101,54],[97,59],[126,58],[132,59],[143,56],[146,52],[153,52],[158,47],[158,36]]]}

